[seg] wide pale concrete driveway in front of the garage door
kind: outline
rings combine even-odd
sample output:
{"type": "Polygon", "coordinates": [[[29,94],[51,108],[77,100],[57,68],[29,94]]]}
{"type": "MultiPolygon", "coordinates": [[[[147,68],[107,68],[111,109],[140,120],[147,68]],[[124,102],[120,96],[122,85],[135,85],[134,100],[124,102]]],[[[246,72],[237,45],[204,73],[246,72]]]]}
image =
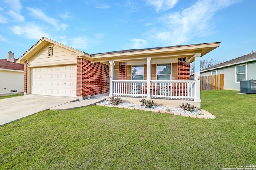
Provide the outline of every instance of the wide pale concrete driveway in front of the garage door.
{"type": "Polygon", "coordinates": [[[0,99],[0,125],[77,99],[78,98],[72,97],[32,94],[0,99]]]}

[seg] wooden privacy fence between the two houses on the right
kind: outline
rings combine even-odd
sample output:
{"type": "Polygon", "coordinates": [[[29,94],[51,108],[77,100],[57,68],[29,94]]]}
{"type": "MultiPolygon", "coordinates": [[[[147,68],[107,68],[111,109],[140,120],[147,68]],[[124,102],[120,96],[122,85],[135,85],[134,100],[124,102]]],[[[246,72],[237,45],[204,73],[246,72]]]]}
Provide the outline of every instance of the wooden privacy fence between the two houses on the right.
{"type": "Polygon", "coordinates": [[[201,76],[201,91],[208,90],[223,90],[224,89],[224,74],[217,74],[211,76],[201,76]]]}

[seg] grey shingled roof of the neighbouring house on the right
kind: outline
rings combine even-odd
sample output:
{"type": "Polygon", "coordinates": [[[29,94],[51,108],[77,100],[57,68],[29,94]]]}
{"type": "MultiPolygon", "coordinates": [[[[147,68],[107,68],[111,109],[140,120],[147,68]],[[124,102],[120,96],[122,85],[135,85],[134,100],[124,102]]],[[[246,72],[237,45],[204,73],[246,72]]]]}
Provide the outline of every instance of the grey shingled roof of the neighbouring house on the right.
{"type": "Polygon", "coordinates": [[[232,59],[223,63],[220,63],[216,66],[212,66],[209,68],[206,68],[204,70],[201,70],[201,72],[206,72],[206,71],[210,71],[210,70],[214,70],[214,69],[218,69],[218,68],[223,68],[223,67],[228,67],[228,66],[234,66],[237,64],[243,64],[243,63],[248,63],[248,62],[252,62],[252,61],[256,61],[256,52],[247,54],[247,55],[243,55],[241,57],[238,57],[236,59],[232,59]]]}

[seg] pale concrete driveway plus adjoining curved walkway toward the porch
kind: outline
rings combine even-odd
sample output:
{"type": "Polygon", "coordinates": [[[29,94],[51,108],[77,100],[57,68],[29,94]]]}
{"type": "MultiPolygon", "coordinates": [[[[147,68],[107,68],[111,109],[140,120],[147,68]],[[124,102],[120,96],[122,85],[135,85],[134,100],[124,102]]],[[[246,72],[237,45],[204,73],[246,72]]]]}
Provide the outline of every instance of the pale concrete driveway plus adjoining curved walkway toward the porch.
{"type": "Polygon", "coordinates": [[[105,98],[90,98],[74,102],[78,98],[44,95],[25,95],[0,100],[0,125],[10,123],[28,115],[47,109],[65,110],[91,106],[105,98]]]}

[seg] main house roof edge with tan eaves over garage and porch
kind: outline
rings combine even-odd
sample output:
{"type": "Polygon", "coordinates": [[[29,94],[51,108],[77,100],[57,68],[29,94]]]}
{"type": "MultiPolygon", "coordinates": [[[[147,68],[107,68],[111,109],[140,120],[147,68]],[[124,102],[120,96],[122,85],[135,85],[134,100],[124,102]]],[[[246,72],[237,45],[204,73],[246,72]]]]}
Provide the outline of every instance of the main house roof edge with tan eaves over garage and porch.
{"type": "Polygon", "coordinates": [[[201,43],[192,45],[176,45],[168,47],[155,47],[145,49],[130,49],[121,51],[112,51],[106,53],[97,53],[89,55],[88,53],[73,49],[46,37],[42,37],[35,45],[26,51],[18,60],[17,63],[24,63],[24,61],[33,57],[40,49],[49,44],[56,44],[60,47],[73,51],[77,56],[86,58],[91,62],[102,62],[109,64],[109,61],[128,61],[128,60],[141,60],[151,57],[152,59],[168,59],[186,57],[190,63],[194,61],[194,55],[201,53],[201,57],[210,51],[220,46],[220,42],[215,43],[201,43]]]}

